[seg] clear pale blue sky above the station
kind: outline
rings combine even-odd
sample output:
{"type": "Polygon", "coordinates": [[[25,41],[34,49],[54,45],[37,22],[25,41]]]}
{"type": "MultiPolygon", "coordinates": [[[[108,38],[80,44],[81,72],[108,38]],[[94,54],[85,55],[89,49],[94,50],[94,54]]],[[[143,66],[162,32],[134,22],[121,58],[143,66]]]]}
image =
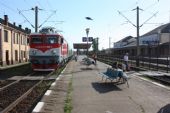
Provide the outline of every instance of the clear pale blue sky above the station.
{"type": "Polygon", "coordinates": [[[0,18],[8,15],[10,23],[34,32],[35,11],[31,9],[38,6],[39,26],[55,27],[71,48],[73,43],[82,43],[89,28],[89,37],[99,38],[101,50],[127,36],[136,37],[137,6],[143,35],[170,22],[169,4],[170,0],[0,0],[0,18]]]}

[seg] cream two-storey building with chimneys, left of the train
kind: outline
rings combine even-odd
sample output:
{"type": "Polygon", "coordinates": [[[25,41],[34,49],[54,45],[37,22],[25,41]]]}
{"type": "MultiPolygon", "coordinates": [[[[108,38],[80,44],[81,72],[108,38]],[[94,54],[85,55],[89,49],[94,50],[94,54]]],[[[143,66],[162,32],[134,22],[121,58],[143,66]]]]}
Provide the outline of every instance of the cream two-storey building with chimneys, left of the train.
{"type": "Polygon", "coordinates": [[[23,29],[8,22],[8,16],[0,18],[0,66],[12,65],[28,61],[28,35],[31,30],[23,29]]]}

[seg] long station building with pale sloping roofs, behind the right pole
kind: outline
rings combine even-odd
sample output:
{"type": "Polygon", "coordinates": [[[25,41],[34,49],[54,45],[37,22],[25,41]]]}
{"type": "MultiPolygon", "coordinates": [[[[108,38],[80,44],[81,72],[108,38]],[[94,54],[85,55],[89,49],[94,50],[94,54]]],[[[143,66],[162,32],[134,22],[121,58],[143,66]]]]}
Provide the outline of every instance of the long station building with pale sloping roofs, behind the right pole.
{"type": "MultiPolygon", "coordinates": [[[[127,36],[114,43],[115,55],[126,52],[137,55],[137,38],[127,36]]],[[[170,55],[170,23],[161,25],[139,37],[140,56],[168,57],[170,55]]]]}

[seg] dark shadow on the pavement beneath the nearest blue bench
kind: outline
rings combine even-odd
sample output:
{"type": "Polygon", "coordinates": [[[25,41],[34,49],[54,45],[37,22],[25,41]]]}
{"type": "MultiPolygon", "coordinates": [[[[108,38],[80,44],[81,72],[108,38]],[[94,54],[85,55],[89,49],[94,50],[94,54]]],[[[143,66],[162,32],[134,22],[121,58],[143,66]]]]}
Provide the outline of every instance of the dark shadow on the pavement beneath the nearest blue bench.
{"type": "Polygon", "coordinates": [[[116,86],[117,83],[114,82],[95,82],[92,83],[93,88],[99,93],[107,93],[110,91],[121,91],[119,87],[116,86]]]}

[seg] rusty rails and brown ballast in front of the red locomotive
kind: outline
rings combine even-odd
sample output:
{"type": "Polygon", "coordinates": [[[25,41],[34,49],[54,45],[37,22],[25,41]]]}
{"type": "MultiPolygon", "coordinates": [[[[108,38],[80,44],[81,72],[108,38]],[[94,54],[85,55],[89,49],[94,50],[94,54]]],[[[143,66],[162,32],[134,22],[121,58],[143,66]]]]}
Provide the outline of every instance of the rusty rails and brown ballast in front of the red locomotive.
{"type": "Polygon", "coordinates": [[[26,113],[26,111],[28,113],[37,98],[40,98],[54,81],[54,79],[48,80],[49,73],[34,72],[17,80],[1,80],[0,113],[26,113]],[[34,76],[43,76],[43,78],[40,77],[39,80],[25,79],[34,76]]]}

